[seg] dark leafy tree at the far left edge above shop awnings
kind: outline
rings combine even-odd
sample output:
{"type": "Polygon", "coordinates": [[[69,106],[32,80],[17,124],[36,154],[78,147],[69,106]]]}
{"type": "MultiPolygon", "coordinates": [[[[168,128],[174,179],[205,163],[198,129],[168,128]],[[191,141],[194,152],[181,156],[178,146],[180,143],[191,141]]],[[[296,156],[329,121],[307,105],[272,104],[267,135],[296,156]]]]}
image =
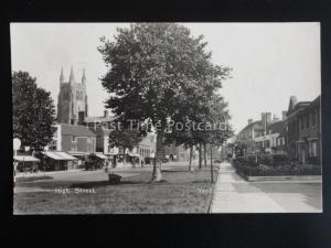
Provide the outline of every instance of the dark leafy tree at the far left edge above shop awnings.
{"type": "Polygon", "coordinates": [[[53,138],[55,107],[51,93],[36,86],[28,72],[12,74],[13,137],[22,145],[41,151],[53,138]]]}

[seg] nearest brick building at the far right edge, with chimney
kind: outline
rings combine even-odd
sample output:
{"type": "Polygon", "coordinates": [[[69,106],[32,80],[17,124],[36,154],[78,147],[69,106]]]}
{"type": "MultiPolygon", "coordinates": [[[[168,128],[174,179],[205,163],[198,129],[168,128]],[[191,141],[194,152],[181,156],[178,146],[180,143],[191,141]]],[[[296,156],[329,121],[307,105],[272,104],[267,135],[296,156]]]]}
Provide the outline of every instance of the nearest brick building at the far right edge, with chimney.
{"type": "Polygon", "coordinates": [[[321,98],[297,101],[290,97],[287,115],[288,152],[301,164],[321,163],[321,98]]]}

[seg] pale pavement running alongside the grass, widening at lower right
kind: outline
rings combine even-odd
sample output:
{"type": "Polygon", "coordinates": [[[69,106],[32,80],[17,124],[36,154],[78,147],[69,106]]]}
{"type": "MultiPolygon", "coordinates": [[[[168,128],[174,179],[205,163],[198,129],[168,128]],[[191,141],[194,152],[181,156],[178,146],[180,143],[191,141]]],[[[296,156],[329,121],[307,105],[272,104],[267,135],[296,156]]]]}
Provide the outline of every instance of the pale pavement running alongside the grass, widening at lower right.
{"type": "Polygon", "coordinates": [[[319,182],[247,182],[222,163],[210,213],[321,213],[319,182]]]}

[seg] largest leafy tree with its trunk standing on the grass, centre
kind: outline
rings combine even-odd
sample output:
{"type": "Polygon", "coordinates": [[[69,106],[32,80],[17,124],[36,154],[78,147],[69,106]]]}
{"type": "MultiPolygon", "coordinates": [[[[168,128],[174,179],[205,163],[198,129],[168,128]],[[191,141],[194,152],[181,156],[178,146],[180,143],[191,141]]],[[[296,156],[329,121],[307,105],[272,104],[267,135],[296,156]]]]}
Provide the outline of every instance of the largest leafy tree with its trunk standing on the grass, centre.
{"type": "Polygon", "coordinates": [[[228,68],[215,66],[203,36],[193,37],[179,24],[136,23],[118,29],[114,39],[102,37],[98,47],[108,67],[102,78],[110,94],[107,107],[119,119],[151,120],[157,131],[152,180],[160,181],[167,120],[211,95],[228,68]]]}

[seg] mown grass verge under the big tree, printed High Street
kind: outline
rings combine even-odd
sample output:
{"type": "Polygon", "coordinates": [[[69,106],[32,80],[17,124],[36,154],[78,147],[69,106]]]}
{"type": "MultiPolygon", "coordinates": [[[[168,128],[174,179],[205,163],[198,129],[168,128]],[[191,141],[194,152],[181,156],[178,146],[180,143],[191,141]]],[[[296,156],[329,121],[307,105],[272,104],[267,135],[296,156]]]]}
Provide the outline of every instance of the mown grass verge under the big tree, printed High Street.
{"type": "Polygon", "coordinates": [[[193,173],[186,166],[173,170],[163,171],[160,183],[151,183],[151,173],[146,171],[122,179],[119,185],[107,181],[35,182],[35,186],[51,191],[14,194],[14,214],[207,213],[213,186],[210,169],[193,173]]]}

